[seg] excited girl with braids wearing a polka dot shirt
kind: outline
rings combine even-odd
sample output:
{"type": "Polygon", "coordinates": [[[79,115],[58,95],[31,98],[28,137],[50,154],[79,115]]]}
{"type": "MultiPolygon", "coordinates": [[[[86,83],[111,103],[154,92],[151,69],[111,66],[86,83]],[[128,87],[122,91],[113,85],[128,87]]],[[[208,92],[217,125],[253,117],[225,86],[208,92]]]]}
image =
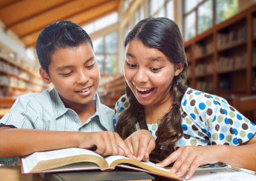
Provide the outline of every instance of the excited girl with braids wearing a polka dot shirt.
{"type": "Polygon", "coordinates": [[[186,86],[182,36],[172,20],[141,20],[124,48],[126,95],[116,104],[114,124],[137,160],[161,155],[156,165],[175,162],[178,177],[189,169],[185,179],[208,163],[256,170],[255,124],[222,97],[186,86]]]}

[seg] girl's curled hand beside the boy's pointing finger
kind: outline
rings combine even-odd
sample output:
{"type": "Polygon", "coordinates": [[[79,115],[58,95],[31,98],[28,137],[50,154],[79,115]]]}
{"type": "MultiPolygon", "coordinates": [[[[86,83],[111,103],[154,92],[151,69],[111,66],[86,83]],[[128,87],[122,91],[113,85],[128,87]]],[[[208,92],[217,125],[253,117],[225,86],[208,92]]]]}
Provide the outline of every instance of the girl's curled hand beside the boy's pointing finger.
{"type": "Polygon", "coordinates": [[[150,152],[155,148],[155,139],[148,130],[137,130],[124,141],[137,161],[148,161],[150,152]]]}

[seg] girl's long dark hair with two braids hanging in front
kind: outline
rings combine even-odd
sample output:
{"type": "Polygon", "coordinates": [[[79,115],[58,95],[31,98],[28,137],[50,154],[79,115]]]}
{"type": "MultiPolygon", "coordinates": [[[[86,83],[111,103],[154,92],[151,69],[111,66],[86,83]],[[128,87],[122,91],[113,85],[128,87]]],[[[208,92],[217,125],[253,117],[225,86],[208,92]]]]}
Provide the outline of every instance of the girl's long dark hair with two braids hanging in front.
{"type": "MultiPolygon", "coordinates": [[[[182,36],[177,24],[168,18],[146,18],[138,22],[128,33],[124,40],[125,49],[132,40],[139,40],[149,48],[158,49],[175,66],[179,63],[184,64],[183,71],[174,77],[170,88],[174,102],[181,102],[187,89],[185,71],[188,64],[186,62],[182,36]]],[[[115,128],[123,139],[126,139],[132,132],[137,130],[135,127],[136,123],[145,121],[143,105],[139,104],[127,84],[126,95],[130,106],[121,113],[115,128]]],[[[182,116],[178,106],[172,106],[170,111],[161,118],[156,135],[159,144],[164,146],[164,149],[167,148],[171,152],[175,150],[172,145],[183,135],[181,119],[182,116]]]]}

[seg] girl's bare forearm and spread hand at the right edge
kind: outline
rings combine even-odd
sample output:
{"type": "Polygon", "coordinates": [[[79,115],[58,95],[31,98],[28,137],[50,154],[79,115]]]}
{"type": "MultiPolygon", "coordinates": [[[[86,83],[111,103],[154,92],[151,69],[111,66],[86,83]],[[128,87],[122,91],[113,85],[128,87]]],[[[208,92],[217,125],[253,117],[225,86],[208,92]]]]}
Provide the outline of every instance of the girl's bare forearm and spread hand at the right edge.
{"type": "Polygon", "coordinates": [[[178,177],[182,177],[189,169],[185,179],[190,179],[198,166],[216,162],[256,170],[256,136],[240,146],[183,146],[156,166],[164,167],[173,162],[171,171],[178,177]]]}

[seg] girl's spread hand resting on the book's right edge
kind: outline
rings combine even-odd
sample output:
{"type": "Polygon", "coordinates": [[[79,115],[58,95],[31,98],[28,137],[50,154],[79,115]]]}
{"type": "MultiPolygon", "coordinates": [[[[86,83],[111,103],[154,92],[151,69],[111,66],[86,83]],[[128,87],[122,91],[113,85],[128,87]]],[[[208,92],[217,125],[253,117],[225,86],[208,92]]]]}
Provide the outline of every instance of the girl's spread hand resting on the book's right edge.
{"type": "Polygon", "coordinates": [[[182,146],[162,162],[157,163],[156,166],[165,167],[175,162],[171,172],[174,172],[178,177],[182,177],[189,169],[185,177],[187,180],[191,178],[198,166],[220,161],[219,158],[222,153],[222,145],[182,146]]]}

